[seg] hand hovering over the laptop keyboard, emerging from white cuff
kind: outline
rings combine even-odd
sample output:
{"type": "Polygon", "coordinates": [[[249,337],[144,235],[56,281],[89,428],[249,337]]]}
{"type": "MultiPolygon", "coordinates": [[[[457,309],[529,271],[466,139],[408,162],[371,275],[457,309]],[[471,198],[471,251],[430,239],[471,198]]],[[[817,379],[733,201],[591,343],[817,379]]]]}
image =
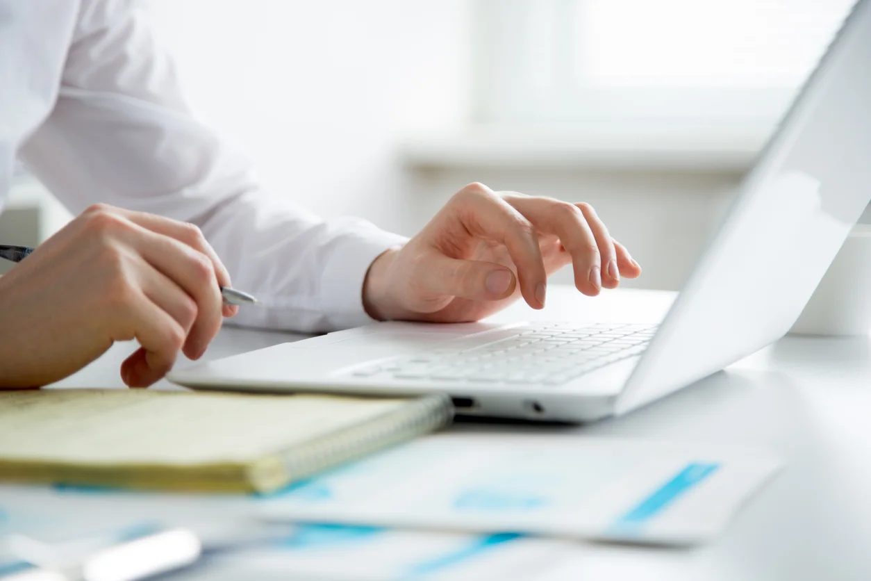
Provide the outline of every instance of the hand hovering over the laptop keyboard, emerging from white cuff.
{"type": "Polygon", "coordinates": [[[380,320],[478,321],[521,296],[544,307],[548,275],[569,263],[588,296],[641,274],[588,204],[470,184],[404,247],[375,259],[363,303],[380,320]]]}

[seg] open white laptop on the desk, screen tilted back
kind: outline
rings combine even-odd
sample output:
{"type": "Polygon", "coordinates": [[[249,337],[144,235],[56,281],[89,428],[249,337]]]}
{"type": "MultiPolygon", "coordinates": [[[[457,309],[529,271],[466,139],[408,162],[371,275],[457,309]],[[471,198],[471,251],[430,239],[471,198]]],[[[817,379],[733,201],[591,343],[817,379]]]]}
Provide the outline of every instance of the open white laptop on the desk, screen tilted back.
{"type": "Polygon", "coordinates": [[[463,414],[579,422],[711,375],[787,333],[871,199],[868,30],[871,0],[861,0],[658,327],[376,323],[170,379],[231,390],[441,392],[463,414]]]}

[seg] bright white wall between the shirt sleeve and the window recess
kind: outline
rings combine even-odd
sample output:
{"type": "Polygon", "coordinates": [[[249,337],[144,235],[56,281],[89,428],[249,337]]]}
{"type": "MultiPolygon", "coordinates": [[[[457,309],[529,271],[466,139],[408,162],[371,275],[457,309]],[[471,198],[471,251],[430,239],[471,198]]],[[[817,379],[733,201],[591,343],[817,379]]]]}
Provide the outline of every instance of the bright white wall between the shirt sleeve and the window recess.
{"type": "Polygon", "coordinates": [[[395,144],[465,119],[465,0],[152,0],[197,111],[279,195],[410,232],[395,144]]]}

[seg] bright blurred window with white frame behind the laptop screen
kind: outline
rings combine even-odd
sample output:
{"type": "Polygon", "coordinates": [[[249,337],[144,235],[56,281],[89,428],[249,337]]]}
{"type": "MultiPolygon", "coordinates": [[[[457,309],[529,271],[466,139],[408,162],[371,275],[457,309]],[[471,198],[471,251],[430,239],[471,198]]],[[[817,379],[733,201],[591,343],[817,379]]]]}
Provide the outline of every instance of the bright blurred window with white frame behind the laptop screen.
{"type": "Polygon", "coordinates": [[[854,0],[476,0],[475,118],[770,128],[854,0]]]}

